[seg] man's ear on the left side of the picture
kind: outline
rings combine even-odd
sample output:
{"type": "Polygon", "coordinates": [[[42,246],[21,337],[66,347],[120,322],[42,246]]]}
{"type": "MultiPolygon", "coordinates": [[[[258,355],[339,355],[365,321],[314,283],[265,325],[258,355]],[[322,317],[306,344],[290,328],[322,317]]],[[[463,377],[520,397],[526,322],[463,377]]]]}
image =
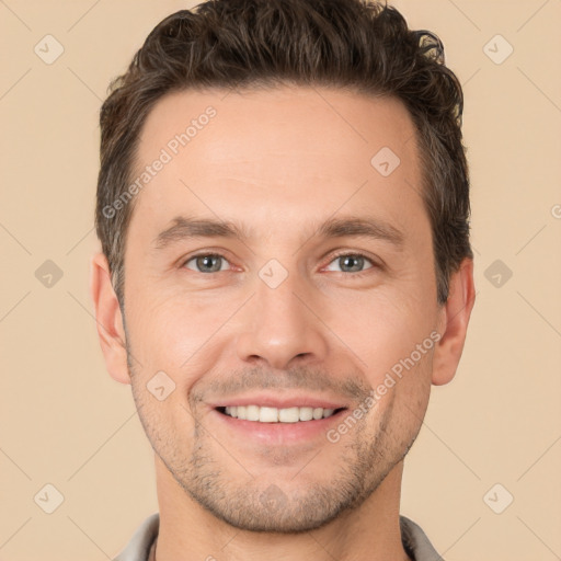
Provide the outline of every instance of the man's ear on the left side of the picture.
{"type": "Polygon", "coordinates": [[[130,383],[123,316],[111,284],[107,259],[103,253],[95,253],[91,257],[90,293],[95,306],[98,336],[107,371],[121,383],[130,383]]]}

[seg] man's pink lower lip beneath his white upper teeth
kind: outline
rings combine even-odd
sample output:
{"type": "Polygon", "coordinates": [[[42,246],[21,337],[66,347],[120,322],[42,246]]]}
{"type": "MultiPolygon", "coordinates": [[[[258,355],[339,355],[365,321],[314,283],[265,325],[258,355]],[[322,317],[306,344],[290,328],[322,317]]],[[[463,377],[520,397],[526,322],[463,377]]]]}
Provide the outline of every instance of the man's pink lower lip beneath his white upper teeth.
{"type": "Polygon", "coordinates": [[[312,421],[299,421],[297,423],[260,423],[259,421],[245,421],[213,410],[218,422],[244,438],[250,438],[262,444],[291,444],[310,440],[318,437],[327,439],[327,432],[333,424],[341,422],[346,409],[334,413],[327,419],[312,421]]]}

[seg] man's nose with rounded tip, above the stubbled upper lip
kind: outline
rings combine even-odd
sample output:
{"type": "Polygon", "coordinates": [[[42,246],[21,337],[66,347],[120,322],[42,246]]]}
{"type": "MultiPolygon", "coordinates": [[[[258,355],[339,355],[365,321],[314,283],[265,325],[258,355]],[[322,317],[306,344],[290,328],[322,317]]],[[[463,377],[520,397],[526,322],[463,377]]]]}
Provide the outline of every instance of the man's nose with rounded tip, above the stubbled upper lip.
{"type": "Polygon", "coordinates": [[[318,306],[293,275],[276,288],[259,279],[256,294],[248,304],[237,340],[241,360],[287,369],[325,359],[329,329],[321,321],[321,310],[314,309],[318,306]]]}

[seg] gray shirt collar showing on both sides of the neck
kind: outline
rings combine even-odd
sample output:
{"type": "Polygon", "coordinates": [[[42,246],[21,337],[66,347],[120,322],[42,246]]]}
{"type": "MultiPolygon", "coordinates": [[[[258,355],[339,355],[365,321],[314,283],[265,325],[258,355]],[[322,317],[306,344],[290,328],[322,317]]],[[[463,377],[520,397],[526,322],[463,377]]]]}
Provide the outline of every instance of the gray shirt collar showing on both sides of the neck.
{"type": "MultiPolygon", "coordinates": [[[[413,561],[444,561],[428,541],[425,533],[413,520],[400,516],[399,524],[403,549],[413,561]]],[[[113,561],[153,561],[159,527],[159,513],[146,518],[137,528],[127,547],[113,561]]]]}

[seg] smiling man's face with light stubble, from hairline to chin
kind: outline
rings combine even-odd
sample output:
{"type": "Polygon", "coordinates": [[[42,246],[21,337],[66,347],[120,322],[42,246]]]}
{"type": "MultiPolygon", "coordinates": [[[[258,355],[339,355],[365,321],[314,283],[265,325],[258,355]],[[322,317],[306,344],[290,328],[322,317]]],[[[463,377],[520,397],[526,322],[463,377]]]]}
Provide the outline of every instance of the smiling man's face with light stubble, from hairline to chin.
{"type": "Polygon", "coordinates": [[[185,500],[238,528],[304,531],[400,469],[426,410],[442,309],[417,146],[394,100],[225,94],[168,95],[142,130],[134,176],[162,149],[171,161],[138,194],[127,233],[133,392],[160,476],[185,500]],[[170,144],[209,105],[184,147],[170,144]],[[375,234],[321,228],[357,220],[375,234]],[[408,367],[380,394],[397,364],[408,367]],[[217,409],[237,404],[335,414],[267,423],[217,409]]]}

